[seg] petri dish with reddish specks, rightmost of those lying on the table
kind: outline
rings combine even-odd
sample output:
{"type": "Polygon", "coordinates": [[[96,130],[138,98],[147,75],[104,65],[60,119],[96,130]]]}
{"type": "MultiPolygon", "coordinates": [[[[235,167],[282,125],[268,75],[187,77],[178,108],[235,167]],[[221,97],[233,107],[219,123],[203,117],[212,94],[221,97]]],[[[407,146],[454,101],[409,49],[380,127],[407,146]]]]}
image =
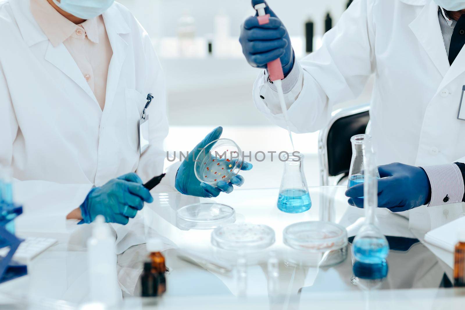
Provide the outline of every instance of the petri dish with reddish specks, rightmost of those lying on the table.
{"type": "Polygon", "coordinates": [[[331,222],[300,222],[284,229],[283,241],[299,251],[332,251],[347,245],[347,231],[345,227],[331,222]]]}

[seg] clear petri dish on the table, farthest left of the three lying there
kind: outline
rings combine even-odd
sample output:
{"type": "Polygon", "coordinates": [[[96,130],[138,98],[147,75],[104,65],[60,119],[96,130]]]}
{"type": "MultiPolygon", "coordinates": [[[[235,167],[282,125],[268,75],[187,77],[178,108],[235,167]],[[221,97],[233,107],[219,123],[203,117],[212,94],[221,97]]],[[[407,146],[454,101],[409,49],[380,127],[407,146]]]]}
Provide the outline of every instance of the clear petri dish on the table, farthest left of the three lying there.
{"type": "Polygon", "coordinates": [[[181,229],[213,229],[235,221],[236,211],[226,204],[189,204],[176,211],[176,226],[181,229]]]}

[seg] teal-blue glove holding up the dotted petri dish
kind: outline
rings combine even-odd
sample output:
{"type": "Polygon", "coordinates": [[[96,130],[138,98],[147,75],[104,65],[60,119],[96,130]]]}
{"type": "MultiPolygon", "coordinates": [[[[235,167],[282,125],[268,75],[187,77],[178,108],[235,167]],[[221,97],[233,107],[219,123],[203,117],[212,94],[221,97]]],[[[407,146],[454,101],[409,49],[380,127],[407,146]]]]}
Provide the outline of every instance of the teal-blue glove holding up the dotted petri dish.
{"type": "MultiPolygon", "coordinates": [[[[241,186],[244,184],[244,178],[240,175],[237,175],[231,178],[230,183],[226,183],[225,181],[218,181],[216,186],[213,187],[212,185],[200,182],[197,177],[195,176],[194,172],[194,160],[192,158],[197,158],[197,155],[202,151],[202,149],[213,142],[221,136],[223,132],[223,127],[217,127],[210,132],[202,142],[200,142],[193,150],[189,153],[188,160],[184,159],[181,166],[178,169],[178,173],[176,174],[176,180],[174,185],[176,189],[185,195],[196,196],[196,197],[205,197],[205,198],[212,198],[217,197],[220,192],[224,191],[226,193],[230,193],[233,191],[233,185],[241,186]],[[194,155],[192,155],[194,154],[194,155]]],[[[211,149],[210,145],[209,148],[205,149],[205,152],[210,152],[211,149]]],[[[252,169],[252,164],[244,162],[242,165],[241,170],[250,170],[252,169]]]]}

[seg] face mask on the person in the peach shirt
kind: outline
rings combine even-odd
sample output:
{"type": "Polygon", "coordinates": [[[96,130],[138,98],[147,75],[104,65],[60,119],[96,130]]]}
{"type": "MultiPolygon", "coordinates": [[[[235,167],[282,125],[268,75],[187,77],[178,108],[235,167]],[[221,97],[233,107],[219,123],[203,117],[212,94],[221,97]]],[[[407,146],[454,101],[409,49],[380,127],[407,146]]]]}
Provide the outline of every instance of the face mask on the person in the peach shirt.
{"type": "Polygon", "coordinates": [[[114,0],[53,0],[63,11],[83,20],[99,16],[112,6],[114,0]]]}

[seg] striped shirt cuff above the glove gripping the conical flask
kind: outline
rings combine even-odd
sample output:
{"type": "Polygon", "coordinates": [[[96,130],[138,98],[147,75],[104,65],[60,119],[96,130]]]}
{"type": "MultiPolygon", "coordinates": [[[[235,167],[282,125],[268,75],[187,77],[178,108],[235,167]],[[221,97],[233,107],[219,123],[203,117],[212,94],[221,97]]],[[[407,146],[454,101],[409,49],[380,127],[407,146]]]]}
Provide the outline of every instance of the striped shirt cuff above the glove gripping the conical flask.
{"type": "Polygon", "coordinates": [[[456,164],[421,167],[431,184],[429,207],[441,204],[457,204],[464,196],[464,179],[456,164]]]}

